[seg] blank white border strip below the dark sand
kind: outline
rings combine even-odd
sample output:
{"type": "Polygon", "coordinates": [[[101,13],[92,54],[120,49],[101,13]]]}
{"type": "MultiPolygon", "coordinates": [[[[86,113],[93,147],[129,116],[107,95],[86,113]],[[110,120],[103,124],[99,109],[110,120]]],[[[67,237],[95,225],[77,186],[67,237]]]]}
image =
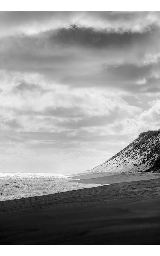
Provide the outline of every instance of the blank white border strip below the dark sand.
{"type": "MultiPolygon", "coordinates": [[[[147,231],[146,231],[147,232],[147,231]]],[[[1,255],[13,256],[150,256],[159,251],[159,246],[149,245],[10,245],[1,246],[1,255]]]]}

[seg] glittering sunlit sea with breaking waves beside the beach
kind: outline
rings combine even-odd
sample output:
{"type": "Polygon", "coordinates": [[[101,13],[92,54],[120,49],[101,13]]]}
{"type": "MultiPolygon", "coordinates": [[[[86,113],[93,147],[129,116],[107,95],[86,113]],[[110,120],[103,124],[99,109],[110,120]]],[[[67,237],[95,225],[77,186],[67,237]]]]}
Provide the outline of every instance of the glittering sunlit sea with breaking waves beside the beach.
{"type": "Polygon", "coordinates": [[[0,201],[100,186],[52,173],[0,173],[0,201]]]}

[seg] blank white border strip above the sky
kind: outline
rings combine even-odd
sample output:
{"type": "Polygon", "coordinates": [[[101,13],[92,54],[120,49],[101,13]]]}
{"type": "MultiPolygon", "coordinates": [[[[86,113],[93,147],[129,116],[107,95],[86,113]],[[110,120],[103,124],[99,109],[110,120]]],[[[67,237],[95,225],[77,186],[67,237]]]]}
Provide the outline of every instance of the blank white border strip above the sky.
{"type": "Polygon", "coordinates": [[[1,11],[160,11],[157,0],[5,0],[1,11]]]}

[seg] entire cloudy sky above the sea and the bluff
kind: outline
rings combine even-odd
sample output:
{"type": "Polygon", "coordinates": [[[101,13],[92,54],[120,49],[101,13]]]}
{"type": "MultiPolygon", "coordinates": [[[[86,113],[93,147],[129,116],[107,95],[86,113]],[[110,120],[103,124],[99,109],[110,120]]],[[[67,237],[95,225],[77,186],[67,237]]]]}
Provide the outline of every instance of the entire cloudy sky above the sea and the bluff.
{"type": "Polygon", "coordinates": [[[0,12],[0,171],[81,172],[160,128],[160,12],[0,12]]]}

